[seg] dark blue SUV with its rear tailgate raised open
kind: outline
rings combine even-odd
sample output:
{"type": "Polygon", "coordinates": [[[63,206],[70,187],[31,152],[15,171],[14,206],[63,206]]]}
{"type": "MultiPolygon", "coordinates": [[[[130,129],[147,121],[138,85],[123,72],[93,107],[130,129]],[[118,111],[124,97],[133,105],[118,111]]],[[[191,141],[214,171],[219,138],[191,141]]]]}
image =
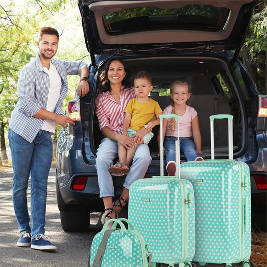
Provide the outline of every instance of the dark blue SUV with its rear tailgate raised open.
{"type": "MultiPolygon", "coordinates": [[[[67,113],[76,122],[62,128],[58,137],[56,186],[65,231],[87,230],[90,212],[104,210],[95,168],[103,138],[95,100],[100,93],[98,76],[114,56],[125,61],[132,82],[139,70],[151,74],[150,97],[162,110],[170,104],[172,82],[182,79],[191,84],[204,159],[210,158],[209,116],[233,115],[233,157],[249,166],[253,226],[266,230],[267,96],[259,95],[237,60],[254,4],[252,0],[79,0],[91,56],[90,92],[69,101],[67,113]]],[[[227,136],[227,121],[214,122],[215,158],[228,157],[227,136]]],[[[147,178],[160,172],[156,134],[149,148],[147,178]]],[[[124,179],[114,178],[116,195],[121,194],[124,179]]]]}

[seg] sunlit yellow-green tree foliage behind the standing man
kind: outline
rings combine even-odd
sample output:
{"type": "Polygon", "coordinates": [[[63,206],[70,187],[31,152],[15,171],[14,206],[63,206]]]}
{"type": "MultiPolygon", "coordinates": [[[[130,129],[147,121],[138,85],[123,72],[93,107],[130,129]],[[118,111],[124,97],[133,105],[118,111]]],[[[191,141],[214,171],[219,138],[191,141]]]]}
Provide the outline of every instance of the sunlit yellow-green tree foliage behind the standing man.
{"type": "MultiPolygon", "coordinates": [[[[17,99],[17,82],[22,67],[37,53],[36,41],[41,27],[54,27],[60,34],[58,59],[79,60],[88,55],[81,29],[79,10],[75,0],[28,1],[19,6],[11,0],[0,5],[0,145],[1,158],[7,160],[6,142],[9,118],[17,99]],[[74,12],[74,9],[75,12],[74,12]]],[[[89,56],[83,59],[89,64],[89,56]]],[[[64,101],[74,97],[79,77],[68,77],[69,94],[64,101]]],[[[55,141],[57,137],[55,136],[55,141]]],[[[1,160],[0,160],[1,165],[1,160]]]]}

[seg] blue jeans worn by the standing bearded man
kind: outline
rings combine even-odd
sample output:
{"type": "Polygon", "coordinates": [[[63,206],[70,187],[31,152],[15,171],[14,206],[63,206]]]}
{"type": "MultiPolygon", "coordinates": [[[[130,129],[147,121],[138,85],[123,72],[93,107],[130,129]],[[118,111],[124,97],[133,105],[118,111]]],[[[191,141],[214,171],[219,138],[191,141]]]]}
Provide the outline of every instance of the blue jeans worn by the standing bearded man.
{"type": "Polygon", "coordinates": [[[47,182],[53,156],[51,133],[40,130],[32,143],[9,129],[13,164],[13,203],[19,231],[45,233],[47,182]],[[27,188],[31,172],[31,216],[27,205],[27,188]]]}

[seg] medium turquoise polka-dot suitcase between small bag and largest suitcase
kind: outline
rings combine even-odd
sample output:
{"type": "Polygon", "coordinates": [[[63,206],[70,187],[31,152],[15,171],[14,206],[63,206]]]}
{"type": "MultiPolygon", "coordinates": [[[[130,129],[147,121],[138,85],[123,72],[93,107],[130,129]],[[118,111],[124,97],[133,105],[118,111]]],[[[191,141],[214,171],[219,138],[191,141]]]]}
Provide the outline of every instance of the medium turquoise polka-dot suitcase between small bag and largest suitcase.
{"type": "MultiPolygon", "coordinates": [[[[153,264],[191,267],[195,254],[193,187],[188,180],[179,179],[179,175],[163,176],[162,120],[169,117],[177,122],[179,118],[176,114],[160,115],[160,176],[139,179],[131,185],[128,217],[143,235],[153,264]]],[[[179,158],[179,141],[176,141],[176,162],[180,162],[179,158]]],[[[176,173],[179,174],[179,164],[176,173]]]]}

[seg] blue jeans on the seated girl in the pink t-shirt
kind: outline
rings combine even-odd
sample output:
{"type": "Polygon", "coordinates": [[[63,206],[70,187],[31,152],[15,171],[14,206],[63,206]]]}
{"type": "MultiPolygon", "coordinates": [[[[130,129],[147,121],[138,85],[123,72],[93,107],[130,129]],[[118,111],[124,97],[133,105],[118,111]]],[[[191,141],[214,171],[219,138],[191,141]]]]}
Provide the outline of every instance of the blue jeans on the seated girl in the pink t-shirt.
{"type": "MultiPolygon", "coordinates": [[[[164,147],[166,149],[166,161],[175,161],[175,140],[177,137],[165,136],[164,147]]],[[[180,151],[186,157],[187,161],[194,161],[198,154],[196,152],[195,143],[191,137],[180,137],[180,151]]]]}

